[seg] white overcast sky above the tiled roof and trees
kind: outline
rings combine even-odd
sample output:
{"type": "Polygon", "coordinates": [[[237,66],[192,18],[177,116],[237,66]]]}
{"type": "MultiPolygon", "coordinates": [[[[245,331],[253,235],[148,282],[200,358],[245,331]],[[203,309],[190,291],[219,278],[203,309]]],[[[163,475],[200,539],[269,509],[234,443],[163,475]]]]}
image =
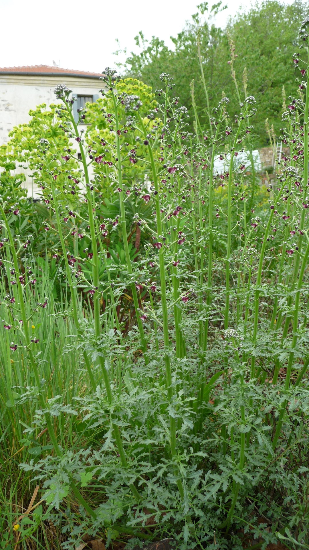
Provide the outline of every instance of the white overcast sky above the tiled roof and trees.
{"type": "MultiPolygon", "coordinates": [[[[52,65],[101,73],[124,61],[120,48],[138,51],[134,36],[158,36],[172,47],[170,36],[180,32],[201,0],[0,0],[0,67],[52,65]]],[[[217,0],[209,0],[209,5],[217,0]]],[[[255,3],[255,2],[254,2],[255,3]]],[[[285,0],[293,3],[293,0],[285,0]]],[[[223,0],[228,9],[217,25],[224,26],[239,5],[250,0],[223,0]]]]}

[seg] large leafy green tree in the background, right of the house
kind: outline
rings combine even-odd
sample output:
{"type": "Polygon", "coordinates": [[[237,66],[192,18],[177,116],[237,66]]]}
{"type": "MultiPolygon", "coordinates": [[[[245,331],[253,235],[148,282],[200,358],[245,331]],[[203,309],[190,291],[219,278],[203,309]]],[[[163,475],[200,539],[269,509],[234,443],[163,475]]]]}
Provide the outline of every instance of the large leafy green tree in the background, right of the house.
{"type": "Polygon", "coordinates": [[[260,106],[255,119],[256,145],[264,146],[267,144],[264,129],[266,118],[274,124],[277,138],[280,135],[282,87],[285,86],[287,97],[294,91],[295,71],[291,62],[295,52],[294,39],[301,21],[309,14],[308,3],[296,0],[286,5],[277,0],[267,0],[247,12],[240,10],[225,30],[212,23],[211,10],[205,22],[203,13],[206,13],[205,6],[201,5],[199,13],[192,17],[192,23],[173,38],[174,51],[169,50],[159,38],[152,37],[147,42],[140,33],[136,44],[141,50],[131,53],[124,72],[140,78],[153,89],[161,87],[159,75],[163,71],[169,72],[175,80],[176,75],[181,74],[181,79],[177,79],[176,94],[183,105],[190,106],[192,118],[190,83],[194,79],[196,108],[203,126],[207,113],[198,59],[199,42],[210,108],[217,106],[224,90],[224,95],[231,101],[229,112],[233,115],[238,111],[239,100],[228,64],[231,59],[229,32],[236,48],[234,68],[240,95],[244,101],[242,75],[246,68],[247,95],[253,95],[260,106]]]}

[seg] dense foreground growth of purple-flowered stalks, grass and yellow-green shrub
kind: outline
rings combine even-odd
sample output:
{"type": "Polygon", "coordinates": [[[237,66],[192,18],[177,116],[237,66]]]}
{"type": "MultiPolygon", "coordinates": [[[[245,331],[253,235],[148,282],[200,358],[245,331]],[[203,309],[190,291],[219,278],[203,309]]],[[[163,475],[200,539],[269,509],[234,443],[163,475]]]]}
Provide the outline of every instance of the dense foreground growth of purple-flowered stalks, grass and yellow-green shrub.
{"type": "Polygon", "coordinates": [[[308,548],[307,29],[268,188],[238,88],[192,135],[168,74],[105,69],[95,122],[57,86],[37,236],[0,203],[3,547],[308,548]]]}

